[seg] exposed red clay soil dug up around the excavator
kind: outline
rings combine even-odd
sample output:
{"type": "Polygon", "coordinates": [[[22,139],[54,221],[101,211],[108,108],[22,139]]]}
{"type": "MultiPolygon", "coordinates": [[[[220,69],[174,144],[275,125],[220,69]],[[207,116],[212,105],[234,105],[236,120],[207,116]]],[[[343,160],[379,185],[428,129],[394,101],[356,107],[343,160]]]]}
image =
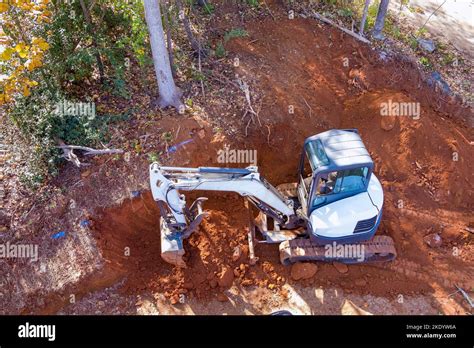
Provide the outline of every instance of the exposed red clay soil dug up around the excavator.
{"type": "MultiPolygon", "coordinates": [[[[252,126],[247,138],[225,142],[256,149],[260,172],[278,185],[295,180],[306,137],[330,128],[359,129],[385,190],[378,233],[391,236],[397,246],[398,259],[389,265],[349,266],[341,273],[319,263],[315,276],[298,282],[387,297],[452,292],[454,284],[473,289],[472,234],[465,230],[474,224],[472,131],[460,121],[471,111],[432,91],[413,64],[396,58],[384,62],[376,51],[314,20],[270,19],[245,29],[248,37],[229,41],[226,49],[231,58],[240,58],[236,73],[264,95],[259,115],[264,126],[252,126]],[[390,99],[419,102],[420,119],[388,120],[393,124],[384,130],[380,103],[390,99]],[[294,114],[288,113],[289,105],[294,114]],[[434,232],[442,237],[439,248],[423,241],[434,232]]],[[[210,127],[203,129],[205,137],[178,151],[173,164],[218,165],[222,139],[213,138],[210,127]]],[[[96,217],[93,227],[105,269],[126,278],[123,291],[164,292],[175,303],[180,294],[225,300],[222,291],[231,284],[281,291],[282,284],[294,282],[291,268],[279,263],[275,245],[258,245],[259,262],[248,264],[242,198],[199,195],[209,197],[210,216],[186,243],[186,269],[160,257],[159,211],[149,192],[96,217]],[[236,247],[243,252],[234,261],[236,247]]],[[[189,195],[188,201],[197,196],[189,195]]]]}

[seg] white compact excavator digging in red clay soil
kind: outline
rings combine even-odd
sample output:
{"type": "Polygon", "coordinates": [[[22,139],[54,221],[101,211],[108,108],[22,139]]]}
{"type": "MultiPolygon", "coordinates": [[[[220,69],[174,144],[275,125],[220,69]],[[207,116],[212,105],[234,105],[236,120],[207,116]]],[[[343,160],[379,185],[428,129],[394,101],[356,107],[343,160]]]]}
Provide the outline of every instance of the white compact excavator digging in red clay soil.
{"type": "Polygon", "coordinates": [[[284,265],[391,261],[396,257],[392,238],[375,236],[382,219],[383,189],[373,169],[357,129],[332,129],[307,138],[297,182],[277,187],[256,166],[185,168],[155,162],[150,165],[150,186],[161,215],[161,256],[186,267],[183,243],[207,216],[203,210],[207,198],[187,205],[181,191],[207,190],[244,197],[250,264],[258,261],[259,243],[279,244],[284,265]]]}

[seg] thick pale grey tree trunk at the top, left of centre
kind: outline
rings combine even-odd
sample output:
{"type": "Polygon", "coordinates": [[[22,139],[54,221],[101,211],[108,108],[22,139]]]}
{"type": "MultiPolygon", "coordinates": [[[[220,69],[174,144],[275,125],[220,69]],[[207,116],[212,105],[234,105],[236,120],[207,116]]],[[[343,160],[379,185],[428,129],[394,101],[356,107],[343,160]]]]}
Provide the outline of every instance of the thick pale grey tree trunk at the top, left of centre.
{"type": "Polygon", "coordinates": [[[176,87],[173,74],[171,72],[170,60],[165,45],[165,35],[163,33],[163,23],[161,21],[161,11],[159,0],[144,0],[145,19],[150,33],[150,45],[155,66],[156,80],[160,96],[158,106],[164,108],[174,106],[181,110],[181,92],[176,87]]]}

